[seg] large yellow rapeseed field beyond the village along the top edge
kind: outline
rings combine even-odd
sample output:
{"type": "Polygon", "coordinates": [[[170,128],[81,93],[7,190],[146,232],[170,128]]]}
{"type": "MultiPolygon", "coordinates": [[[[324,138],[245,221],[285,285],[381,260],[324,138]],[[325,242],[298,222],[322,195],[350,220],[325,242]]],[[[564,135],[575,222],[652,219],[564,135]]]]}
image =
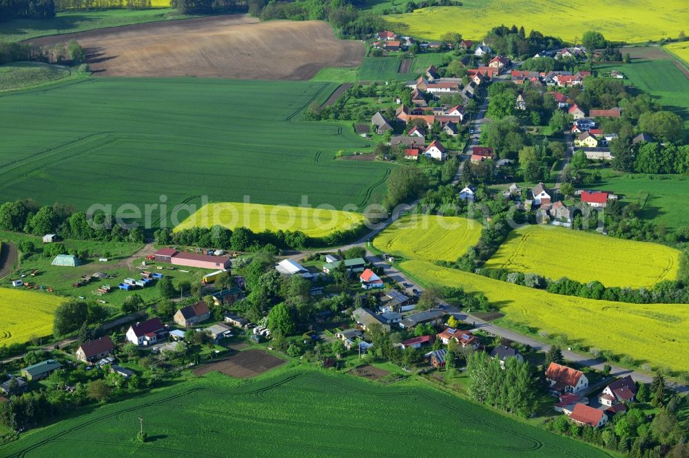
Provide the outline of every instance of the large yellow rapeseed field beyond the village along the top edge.
{"type": "Polygon", "coordinates": [[[608,40],[641,43],[676,38],[683,24],[689,23],[689,9],[683,0],[668,0],[663,8],[648,8],[648,3],[639,0],[594,0],[585,6],[547,0],[466,0],[459,7],[424,8],[385,19],[409,25],[405,33],[424,39],[459,32],[465,39],[480,40],[497,25],[515,24],[523,25],[527,34],[533,29],[567,41],[580,39],[587,30],[597,30],[608,40]],[[591,11],[596,12],[595,21],[589,19],[591,11]]]}

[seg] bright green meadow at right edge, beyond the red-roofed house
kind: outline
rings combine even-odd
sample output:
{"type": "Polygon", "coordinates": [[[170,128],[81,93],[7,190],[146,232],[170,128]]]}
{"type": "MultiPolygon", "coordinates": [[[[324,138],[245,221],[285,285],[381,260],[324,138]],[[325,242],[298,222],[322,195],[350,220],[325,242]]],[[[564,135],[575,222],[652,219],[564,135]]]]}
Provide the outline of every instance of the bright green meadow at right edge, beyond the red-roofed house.
{"type": "Polygon", "coordinates": [[[667,228],[687,226],[689,177],[686,175],[645,175],[602,169],[597,188],[614,191],[622,204],[638,202],[639,217],[667,228]]]}

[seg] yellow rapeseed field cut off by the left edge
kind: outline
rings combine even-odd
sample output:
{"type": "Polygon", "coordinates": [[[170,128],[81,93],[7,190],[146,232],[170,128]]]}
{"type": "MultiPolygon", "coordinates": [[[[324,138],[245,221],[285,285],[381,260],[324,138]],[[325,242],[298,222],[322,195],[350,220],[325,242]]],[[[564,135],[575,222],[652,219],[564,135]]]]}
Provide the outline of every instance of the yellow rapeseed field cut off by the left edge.
{"type": "Polygon", "coordinates": [[[0,345],[50,336],[52,314],[62,301],[48,293],[0,288],[0,345]]]}

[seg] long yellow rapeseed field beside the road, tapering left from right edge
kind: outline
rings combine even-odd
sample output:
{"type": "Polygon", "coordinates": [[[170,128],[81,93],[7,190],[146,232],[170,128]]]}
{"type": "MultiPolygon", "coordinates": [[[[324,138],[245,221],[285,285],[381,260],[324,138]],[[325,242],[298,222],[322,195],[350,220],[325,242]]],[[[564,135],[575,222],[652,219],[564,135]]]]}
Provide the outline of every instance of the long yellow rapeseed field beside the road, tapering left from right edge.
{"type": "Polygon", "coordinates": [[[686,305],[628,304],[560,296],[427,261],[404,261],[400,268],[426,285],[482,292],[515,322],[550,334],[566,334],[584,345],[628,355],[654,367],[689,371],[686,305]]]}

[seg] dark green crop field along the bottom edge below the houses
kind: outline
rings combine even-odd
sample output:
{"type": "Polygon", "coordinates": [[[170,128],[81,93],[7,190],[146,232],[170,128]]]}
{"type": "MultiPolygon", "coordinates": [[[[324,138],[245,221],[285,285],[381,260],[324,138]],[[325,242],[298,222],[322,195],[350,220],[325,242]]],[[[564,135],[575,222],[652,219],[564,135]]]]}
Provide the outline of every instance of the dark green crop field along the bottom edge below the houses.
{"type": "Polygon", "coordinates": [[[309,367],[238,381],[211,373],[95,408],[0,446],[3,457],[604,457],[421,382],[382,386],[309,367]],[[134,444],[139,420],[150,438],[134,444]],[[179,421],[179,419],[184,419],[179,421]]]}

